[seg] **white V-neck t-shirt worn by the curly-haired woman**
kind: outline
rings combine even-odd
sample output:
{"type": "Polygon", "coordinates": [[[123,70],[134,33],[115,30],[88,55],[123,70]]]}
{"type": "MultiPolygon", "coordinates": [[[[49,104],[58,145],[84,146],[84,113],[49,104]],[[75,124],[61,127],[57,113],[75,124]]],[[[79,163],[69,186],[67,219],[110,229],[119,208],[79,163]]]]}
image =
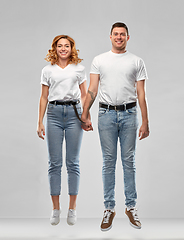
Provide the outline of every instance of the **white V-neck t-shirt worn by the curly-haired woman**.
{"type": "Polygon", "coordinates": [[[49,86],[49,102],[79,100],[79,85],[85,80],[85,68],[81,64],[68,64],[64,69],[50,64],[42,69],[41,74],[41,84],[49,86]]]}

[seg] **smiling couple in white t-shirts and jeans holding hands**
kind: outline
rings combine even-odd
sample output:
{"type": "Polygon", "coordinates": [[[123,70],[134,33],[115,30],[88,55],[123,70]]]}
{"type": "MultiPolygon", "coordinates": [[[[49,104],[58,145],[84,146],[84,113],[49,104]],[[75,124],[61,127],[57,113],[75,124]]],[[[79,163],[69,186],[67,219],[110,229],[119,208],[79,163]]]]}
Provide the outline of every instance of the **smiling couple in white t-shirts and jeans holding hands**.
{"type": "Polygon", "coordinates": [[[44,139],[43,118],[47,108],[46,138],[49,154],[49,183],[53,210],[52,225],[60,221],[59,195],[61,190],[62,143],[66,140],[66,167],[68,173],[69,210],[67,223],[76,223],[76,199],[79,188],[79,152],[83,130],[93,130],[89,110],[99,91],[98,130],[103,153],[104,215],[101,230],[112,227],[115,216],[115,168],[117,142],[120,140],[124,171],[125,213],[131,226],[140,229],[141,222],[135,208],[137,192],[135,181],[135,148],[137,139],[137,99],[142,125],[139,139],[149,135],[145,80],[147,73],[141,58],[126,50],[129,40],[124,23],[112,25],[112,49],[94,58],[87,91],[85,68],[80,64],[72,38],[60,35],[54,38],[46,60],[49,65],[41,75],[38,136],[44,139]],[[83,109],[83,110],[82,110],[83,109]],[[81,118],[79,117],[81,116],[81,118]]]}

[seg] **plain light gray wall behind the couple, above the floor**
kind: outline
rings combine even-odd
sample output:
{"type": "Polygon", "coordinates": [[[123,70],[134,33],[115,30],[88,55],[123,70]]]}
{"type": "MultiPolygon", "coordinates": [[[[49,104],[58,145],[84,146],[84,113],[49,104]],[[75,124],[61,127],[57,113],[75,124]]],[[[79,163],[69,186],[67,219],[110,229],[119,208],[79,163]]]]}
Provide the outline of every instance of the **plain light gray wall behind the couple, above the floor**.
{"type": "MultiPolygon", "coordinates": [[[[144,59],[151,135],[138,142],[137,190],[142,218],[182,218],[183,4],[181,0],[1,0],[0,1],[0,217],[49,217],[46,141],[37,137],[41,69],[52,39],[68,34],[89,70],[94,56],[109,51],[116,21],[130,30],[128,50],[144,59]]],[[[101,217],[102,158],[97,132],[84,133],[78,217],[101,217]]],[[[139,116],[140,117],[140,116],[139,116]]],[[[124,217],[120,155],[117,161],[117,217],[124,217]]],[[[66,168],[62,217],[68,208],[66,168]]]]}

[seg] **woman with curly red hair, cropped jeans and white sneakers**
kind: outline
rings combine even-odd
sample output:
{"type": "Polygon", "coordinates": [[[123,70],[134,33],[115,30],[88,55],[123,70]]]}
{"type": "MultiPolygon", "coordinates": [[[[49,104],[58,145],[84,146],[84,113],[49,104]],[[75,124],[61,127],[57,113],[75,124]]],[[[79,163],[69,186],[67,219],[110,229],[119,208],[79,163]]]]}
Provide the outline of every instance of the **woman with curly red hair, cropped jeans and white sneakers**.
{"type": "Polygon", "coordinates": [[[59,35],[53,39],[45,60],[50,64],[42,69],[41,74],[37,133],[40,138],[44,139],[46,132],[48,145],[48,177],[53,203],[50,223],[57,225],[60,221],[62,145],[65,138],[69,193],[67,223],[74,225],[77,219],[76,199],[80,178],[79,152],[83,135],[79,115],[81,115],[81,104],[83,105],[85,101],[87,91],[85,68],[80,64],[82,59],[78,57],[75,41],[67,35],[59,35]],[[43,118],[46,108],[45,131],[43,118]]]}

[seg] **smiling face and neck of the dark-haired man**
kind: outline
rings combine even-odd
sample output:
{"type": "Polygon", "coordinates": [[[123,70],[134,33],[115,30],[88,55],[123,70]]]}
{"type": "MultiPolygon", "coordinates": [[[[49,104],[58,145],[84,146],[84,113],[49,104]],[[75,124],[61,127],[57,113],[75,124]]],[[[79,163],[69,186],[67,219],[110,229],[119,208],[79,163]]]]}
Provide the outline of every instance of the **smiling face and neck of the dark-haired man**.
{"type": "Polygon", "coordinates": [[[127,31],[123,27],[116,27],[110,35],[112,42],[112,50],[114,51],[124,51],[126,49],[127,41],[130,36],[127,35],[127,31]]]}

